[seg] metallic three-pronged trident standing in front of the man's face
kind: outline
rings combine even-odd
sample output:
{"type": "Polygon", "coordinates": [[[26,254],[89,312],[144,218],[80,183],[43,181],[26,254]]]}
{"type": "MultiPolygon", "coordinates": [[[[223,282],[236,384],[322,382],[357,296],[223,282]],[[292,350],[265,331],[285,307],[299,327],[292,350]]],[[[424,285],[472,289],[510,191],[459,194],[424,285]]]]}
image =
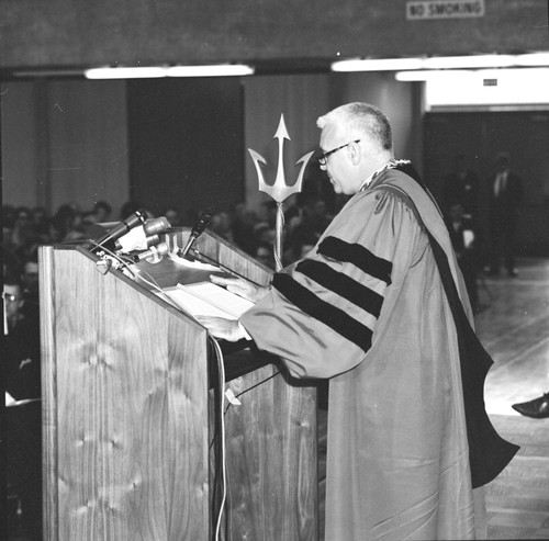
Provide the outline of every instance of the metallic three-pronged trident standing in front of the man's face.
{"type": "Polygon", "coordinates": [[[277,224],[276,224],[276,237],[274,237],[274,263],[276,270],[282,269],[282,239],[283,239],[283,228],[284,228],[284,206],[283,202],[292,194],[301,192],[301,184],[303,183],[303,174],[305,172],[305,167],[313,156],[314,151],[305,154],[296,162],[302,164],[298,180],[292,184],[288,185],[285,183],[284,176],[284,139],[291,140],[288,135],[288,129],[285,128],[284,115],[280,115],[280,122],[278,124],[277,133],[274,134],[274,139],[278,139],[278,166],[277,166],[277,177],[273,184],[268,184],[264,178],[264,171],[259,164],[267,164],[267,160],[258,153],[248,148],[248,153],[254,160],[256,166],[257,180],[259,184],[259,191],[269,194],[277,202],[277,224]]]}

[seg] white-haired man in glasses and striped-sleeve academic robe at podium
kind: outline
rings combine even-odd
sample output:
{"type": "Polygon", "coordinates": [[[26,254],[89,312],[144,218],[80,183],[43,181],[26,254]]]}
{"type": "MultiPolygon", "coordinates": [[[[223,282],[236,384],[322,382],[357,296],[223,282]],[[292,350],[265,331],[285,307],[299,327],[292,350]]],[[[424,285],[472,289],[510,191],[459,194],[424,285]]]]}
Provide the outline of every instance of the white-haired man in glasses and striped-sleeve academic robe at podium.
{"type": "Polygon", "coordinates": [[[249,336],[294,376],[330,379],[327,541],[483,538],[458,336],[427,235],[471,319],[448,230],[394,160],[381,111],[350,103],[317,124],[321,167],[352,198],[269,289],[212,277],[256,304],[239,322],[200,320],[219,338],[249,336]]]}

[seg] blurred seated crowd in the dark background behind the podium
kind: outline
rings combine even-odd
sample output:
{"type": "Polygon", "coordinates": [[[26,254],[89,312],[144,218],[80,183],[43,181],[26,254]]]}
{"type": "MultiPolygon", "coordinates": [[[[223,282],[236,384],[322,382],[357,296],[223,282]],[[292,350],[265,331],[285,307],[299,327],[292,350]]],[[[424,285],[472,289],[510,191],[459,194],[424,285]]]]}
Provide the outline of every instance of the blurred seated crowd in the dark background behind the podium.
{"type": "MultiPolygon", "coordinates": [[[[329,203],[315,193],[302,193],[293,200],[284,204],[284,264],[309,251],[333,217],[329,203]]],[[[38,247],[96,238],[96,224],[117,223],[141,207],[127,202],[113,211],[105,201],[86,212],[75,204],[63,204],[54,214],[44,207],[2,207],[3,362],[7,404],[12,406],[7,408],[8,493],[14,501],[8,516],[10,529],[25,539],[42,539],[38,247]]],[[[148,217],[156,217],[145,211],[148,217]]],[[[191,227],[194,219],[191,216],[184,221],[176,207],[164,208],[158,216],[165,216],[173,227],[191,227]]],[[[274,202],[266,202],[258,210],[239,204],[215,212],[209,230],[273,269],[276,223],[274,202]]]]}

